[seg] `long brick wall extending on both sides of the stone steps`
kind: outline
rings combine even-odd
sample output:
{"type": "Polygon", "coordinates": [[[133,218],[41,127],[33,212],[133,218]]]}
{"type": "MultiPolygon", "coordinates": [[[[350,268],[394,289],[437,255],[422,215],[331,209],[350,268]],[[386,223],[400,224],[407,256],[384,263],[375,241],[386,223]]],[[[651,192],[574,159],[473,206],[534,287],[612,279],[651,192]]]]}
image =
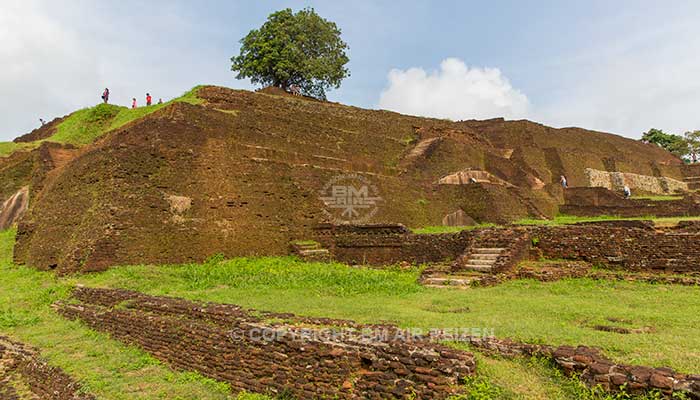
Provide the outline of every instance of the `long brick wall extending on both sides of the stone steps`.
{"type": "Polygon", "coordinates": [[[633,272],[700,272],[700,221],[671,228],[658,228],[650,221],[606,221],[438,235],[396,227],[323,227],[319,232],[317,240],[332,257],[349,264],[441,263],[468,255],[471,247],[493,246],[508,250],[495,272],[505,272],[528,256],[587,261],[633,272]]]}

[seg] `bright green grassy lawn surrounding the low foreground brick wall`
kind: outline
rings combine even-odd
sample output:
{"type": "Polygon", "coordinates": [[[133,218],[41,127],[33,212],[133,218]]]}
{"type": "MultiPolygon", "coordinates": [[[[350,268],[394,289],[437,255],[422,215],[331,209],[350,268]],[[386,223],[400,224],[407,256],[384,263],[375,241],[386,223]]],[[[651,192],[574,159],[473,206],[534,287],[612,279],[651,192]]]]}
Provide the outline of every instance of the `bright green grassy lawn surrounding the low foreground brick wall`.
{"type": "MultiPolygon", "coordinates": [[[[499,337],[594,345],[619,361],[700,372],[700,291],[692,287],[578,279],[440,290],[419,286],[418,269],[357,269],[286,257],[126,266],[56,278],[14,266],[13,239],[13,231],[0,232],[0,333],[39,347],[53,365],[104,399],[232,397],[226,385],[174,372],[138,349],[56,315],[50,304],[66,298],[76,283],[403,327],[493,329],[499,337]],[[596,331],[595,324],[651,327],[652,332],[621,335],[596,331]]],[[[475,393],[490,394],[467,398],[582,398],[576,381],[545,362],[479,360],[480,376],[469,385],[475,393]]]]}

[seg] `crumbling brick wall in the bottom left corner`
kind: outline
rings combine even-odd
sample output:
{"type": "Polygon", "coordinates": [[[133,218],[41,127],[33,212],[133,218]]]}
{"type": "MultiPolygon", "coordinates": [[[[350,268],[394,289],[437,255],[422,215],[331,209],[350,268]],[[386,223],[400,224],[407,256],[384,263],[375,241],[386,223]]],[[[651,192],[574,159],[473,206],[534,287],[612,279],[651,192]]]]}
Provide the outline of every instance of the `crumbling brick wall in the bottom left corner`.
{"type": "Polygon", "coordinates": [[[70,376],[48,366],[33,348],[0,336],[0,399],[19,400],[24,390],[42,400],[94,400],[70,376]],[[22,384],[22,389],[14,383],[22,384]]]}

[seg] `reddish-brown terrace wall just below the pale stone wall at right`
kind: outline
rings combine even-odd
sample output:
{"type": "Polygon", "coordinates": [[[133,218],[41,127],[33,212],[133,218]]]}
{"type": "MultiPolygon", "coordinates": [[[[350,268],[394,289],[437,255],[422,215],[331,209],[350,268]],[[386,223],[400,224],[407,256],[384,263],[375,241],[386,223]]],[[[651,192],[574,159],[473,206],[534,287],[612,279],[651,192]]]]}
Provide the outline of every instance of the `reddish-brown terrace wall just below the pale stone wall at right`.
{"type": "Polygon", "coordinates": [[[577,216],[615,215],[620,217],[680,217],[700,215],[700,199],[686,195],[678,200],[625,199],[602,187],[576,187],[564,191],[562,214],[577,216]]]}

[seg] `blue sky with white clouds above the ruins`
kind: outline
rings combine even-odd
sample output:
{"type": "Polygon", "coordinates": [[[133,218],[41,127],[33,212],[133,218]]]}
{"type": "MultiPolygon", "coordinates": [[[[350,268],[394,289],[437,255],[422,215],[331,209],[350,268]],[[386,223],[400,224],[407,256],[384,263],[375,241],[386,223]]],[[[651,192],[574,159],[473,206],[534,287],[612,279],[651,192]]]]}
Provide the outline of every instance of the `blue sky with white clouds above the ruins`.
{"type": "Polygon", "coordinates": [[[239,40],[313,7],[350,49],[328,98],[639,138],[700,129],[700,1],[0,0],[0,141],[76,109],[237,80],[239,40]]]}

